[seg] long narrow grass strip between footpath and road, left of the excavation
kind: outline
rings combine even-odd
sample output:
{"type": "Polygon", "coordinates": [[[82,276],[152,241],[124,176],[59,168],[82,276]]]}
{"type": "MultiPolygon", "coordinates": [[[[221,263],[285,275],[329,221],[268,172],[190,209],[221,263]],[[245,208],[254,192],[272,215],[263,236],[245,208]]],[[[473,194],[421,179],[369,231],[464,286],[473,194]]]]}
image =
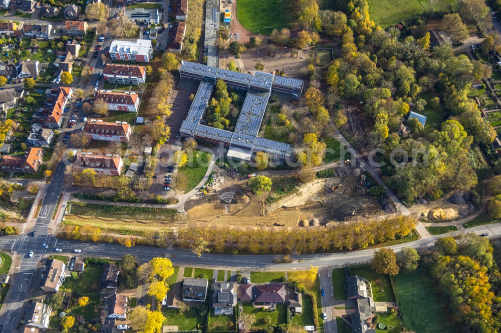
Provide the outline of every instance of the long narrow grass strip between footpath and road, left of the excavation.
{"type": "Polygon", "coordinates": [[[133,216],[133,218],[137,219],[162,219],[172,221],[177,213],[177,210],[172,208],[118,206],[84,202],[70,203],[72,214],[85,216],[99,216],[109,218],[130,218],[131,216],[133,216]]]}

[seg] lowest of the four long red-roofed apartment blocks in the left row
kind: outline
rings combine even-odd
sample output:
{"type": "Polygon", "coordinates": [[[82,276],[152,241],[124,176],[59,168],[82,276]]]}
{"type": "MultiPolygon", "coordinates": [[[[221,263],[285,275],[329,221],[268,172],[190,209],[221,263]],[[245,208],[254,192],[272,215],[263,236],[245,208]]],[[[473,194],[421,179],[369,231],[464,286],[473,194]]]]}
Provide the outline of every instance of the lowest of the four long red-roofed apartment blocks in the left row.
{"type": "Polygon", "coordinates": [[[77,155],[73,169],[81,172],[91,168],[97,173],[118,176],[122,172],[123,160],[118,154],[98,155],[91,152],[81,152],[77,155]]]}

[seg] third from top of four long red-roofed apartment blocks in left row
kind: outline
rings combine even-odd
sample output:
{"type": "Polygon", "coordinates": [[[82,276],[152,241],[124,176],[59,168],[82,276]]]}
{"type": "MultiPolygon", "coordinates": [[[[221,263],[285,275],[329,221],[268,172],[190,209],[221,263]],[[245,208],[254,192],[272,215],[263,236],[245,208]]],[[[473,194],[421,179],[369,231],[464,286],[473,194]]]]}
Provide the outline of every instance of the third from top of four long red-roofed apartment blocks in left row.
{"type": "Polygon", "coordinates": [[[105,122],[91,119],[85,124],[84,133],[93,140],[129,142],[130,125],[125,121],[105,122]]]}

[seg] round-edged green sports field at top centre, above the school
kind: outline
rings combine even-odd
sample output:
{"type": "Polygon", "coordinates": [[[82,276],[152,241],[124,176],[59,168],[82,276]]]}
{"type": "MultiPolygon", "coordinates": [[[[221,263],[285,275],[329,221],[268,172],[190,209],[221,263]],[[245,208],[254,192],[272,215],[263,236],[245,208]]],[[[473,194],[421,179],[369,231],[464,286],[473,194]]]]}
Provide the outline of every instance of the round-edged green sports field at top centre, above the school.
{"type": "Polygon", "coordinates": [[[294,20],[294,1],[238,0],[238,21],[249,31],[270,34],[274,28],[290,27],[294,20]]]}

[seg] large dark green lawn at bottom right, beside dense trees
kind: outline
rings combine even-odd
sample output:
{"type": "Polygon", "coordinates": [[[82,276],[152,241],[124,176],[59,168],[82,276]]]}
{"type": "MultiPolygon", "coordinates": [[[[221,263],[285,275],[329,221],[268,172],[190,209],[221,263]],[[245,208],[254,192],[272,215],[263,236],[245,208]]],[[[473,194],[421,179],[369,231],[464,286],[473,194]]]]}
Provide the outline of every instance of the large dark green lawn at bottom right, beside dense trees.
{"type": "Polygon", "coordinates": [[[395,296],[402,321],[407,330],[427,333],[459,331],[449,316],[448,302],[439,293],[438,285],[426,268],[419,266],[410,274],[393,277],[395,296]]]}

